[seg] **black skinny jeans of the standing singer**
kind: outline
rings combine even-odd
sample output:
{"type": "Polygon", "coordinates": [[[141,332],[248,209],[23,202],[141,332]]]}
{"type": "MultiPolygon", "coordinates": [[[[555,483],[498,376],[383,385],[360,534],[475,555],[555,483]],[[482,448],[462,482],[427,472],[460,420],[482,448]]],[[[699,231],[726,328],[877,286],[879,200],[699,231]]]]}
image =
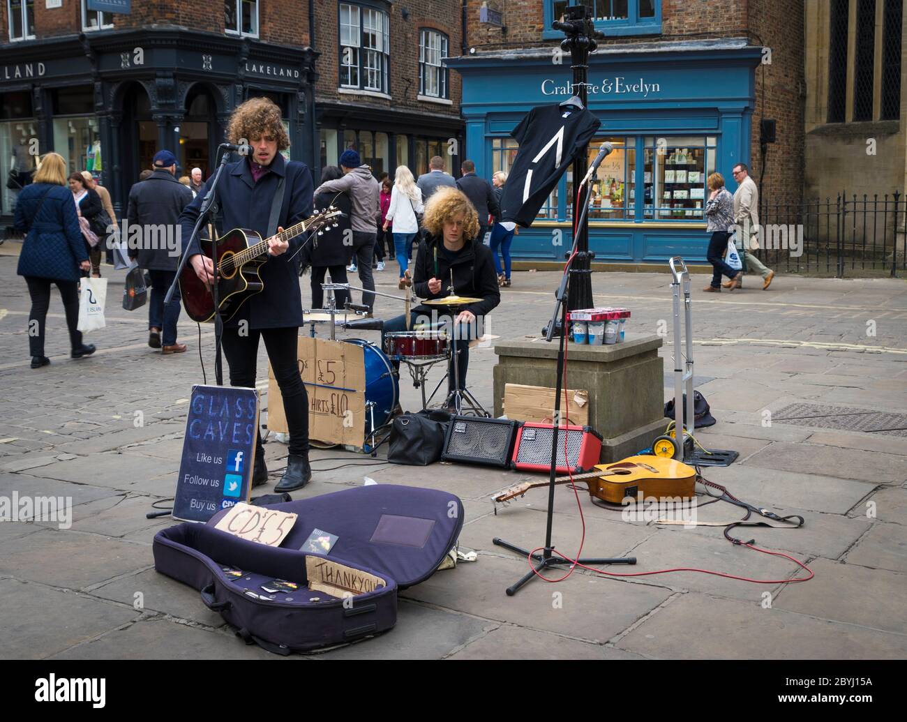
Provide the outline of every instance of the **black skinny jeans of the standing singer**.
{"type": "MultiPolygon", "coordinates": [[[[308,395],[299,376],[297,338],[299,329],[250,328],[248,336],[239,336],[239,328],[224,328],[223,349],[229,365],[229,385],[255,388],[258,338],[265,339],[268,359],[283,396],[287,416],[290,454],[308,456],[308,395]]],[[[256,430],[256,454],[264,454],[260,430],[256,430]]],[[[263,457],[262,457],[263,458],[263,457]]]]}

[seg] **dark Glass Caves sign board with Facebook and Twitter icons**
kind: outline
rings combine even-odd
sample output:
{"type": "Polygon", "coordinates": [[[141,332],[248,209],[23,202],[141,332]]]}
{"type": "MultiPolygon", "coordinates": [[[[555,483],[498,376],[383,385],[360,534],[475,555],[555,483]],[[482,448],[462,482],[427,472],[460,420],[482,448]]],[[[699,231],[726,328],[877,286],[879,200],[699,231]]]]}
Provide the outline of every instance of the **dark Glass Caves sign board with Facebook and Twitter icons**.
{"type": "Polygon", "coordinates": [[[256,429],[254,388],[192,387],[174,519],[207,522],[221,509],[249,501],[256,429]]]}

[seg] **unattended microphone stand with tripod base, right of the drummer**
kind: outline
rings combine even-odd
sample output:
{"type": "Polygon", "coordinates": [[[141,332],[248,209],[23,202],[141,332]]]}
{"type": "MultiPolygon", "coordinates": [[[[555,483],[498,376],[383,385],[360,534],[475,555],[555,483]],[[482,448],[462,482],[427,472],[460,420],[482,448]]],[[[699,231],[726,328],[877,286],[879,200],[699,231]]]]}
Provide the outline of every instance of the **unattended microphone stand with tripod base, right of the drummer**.
{"type": "MultiPolygon", "coordinates": [[[[503,547],[504,549],[509,549],[510,551],[515,551],[518,554],[522,554],[524,559],[532,558],[532,561],[535,561],[535,566],[532,568],[532,571],[527,572],[522,576],[522,578],[516,581],[512,586],[508,587],[506,592],[508,597],[512,597],[516,594],[525,584],[539,575],[542,570],[548,569],[549,567],[561,566],[563,564],[571,564],[574,562],[569,559],[563,559],[561,557],[554,556],[554,545],[551,544],[551,527],[554,523],[554,479],[557,475],[557,461],[558,461],[558,431],[561,427],[561,393],[563,392],[563,373],[564,373],[564,362],[566,358],[564,345],[567,343],[567,298],[568,292],[570,289],[570,279],[573,265],[573,259],[578,255],[577,249],[579,248],[580,238],[582,237],[581,229],[585,223],[587,223],[587,215],[589,213],[589,203],[591,200],[591,193],[586,193],[585,204],[583,205],[582,212],[580,213],[580,221],[576,225],[576,229],[573,233],[573,248],[571,249],[571,254],[567,259],[567,265],[564,268],[563,276],[561,277],[561,285],[555,293],[554,301],[554,314],[551,316],[551,323],[548,324],[548,328],[545,332],[545,340],[551,342],[553,338],[555,327],[557,325],[558,317],[561,317],[561,328],[562,333],[559,337],[559,346],[558,346],[558,364],[557,364],[557,381],[555,382],[555,392],[554,392],[554,418],[553,418],[553,429],[551,433],[551,471],[549,472],[548,477],[548,513],[547,513],[547,525],[545,528],[545,544],[542,547],[541,554],[531,553],[528,549],[522,549],[515,544],[509,542],[504,542],[498,537],[494,537],[492,540],[493,544],[503,547]]],[[[566,423],[564,426],[566,427],[566,423]]],[[[566,434],[566,429],[564,430],[566,434]]],[[[564,463],[567,463],[566,455],[564,457],[564,463]]],[[[576,560],[578,564],[635,564],[636,557],[619,557],[613,559],[578,559],[576,560]]]]}

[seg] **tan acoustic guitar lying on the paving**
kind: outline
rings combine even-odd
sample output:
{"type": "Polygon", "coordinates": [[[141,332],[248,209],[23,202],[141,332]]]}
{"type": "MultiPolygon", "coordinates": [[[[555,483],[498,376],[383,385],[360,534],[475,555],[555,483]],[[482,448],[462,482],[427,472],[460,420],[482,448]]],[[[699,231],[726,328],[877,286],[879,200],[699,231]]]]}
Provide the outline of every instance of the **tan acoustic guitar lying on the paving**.
{"type": "MultiPolygon", "coordinates": [[[[561,476],[556,484],[579,482],[589,483],[589,495],[602,502],[619,504],[626,497],[634,500],[638,494],[643,498],[658,497],[689,499],[696,494],[696,469],[674,459],[660,456],[629,456],[617,463],[600,463],[598,471],[561,476]]],[[[548,482],[519,483],[493,496],[493,502],[507,502],[522,496],[530,489],[548,486],[548,482]]]]}

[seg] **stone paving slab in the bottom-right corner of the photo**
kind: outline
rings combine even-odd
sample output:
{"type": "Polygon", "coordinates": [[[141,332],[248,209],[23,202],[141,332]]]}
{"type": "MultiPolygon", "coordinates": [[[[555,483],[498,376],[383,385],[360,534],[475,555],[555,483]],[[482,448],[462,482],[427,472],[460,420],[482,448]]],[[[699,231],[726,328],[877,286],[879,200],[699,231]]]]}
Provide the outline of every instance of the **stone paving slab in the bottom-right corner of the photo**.
{"type": "Polygon", "coordinates": [[[903,659],[907,637],[691,592],[616,645],[655,659],[903,659]]]}

